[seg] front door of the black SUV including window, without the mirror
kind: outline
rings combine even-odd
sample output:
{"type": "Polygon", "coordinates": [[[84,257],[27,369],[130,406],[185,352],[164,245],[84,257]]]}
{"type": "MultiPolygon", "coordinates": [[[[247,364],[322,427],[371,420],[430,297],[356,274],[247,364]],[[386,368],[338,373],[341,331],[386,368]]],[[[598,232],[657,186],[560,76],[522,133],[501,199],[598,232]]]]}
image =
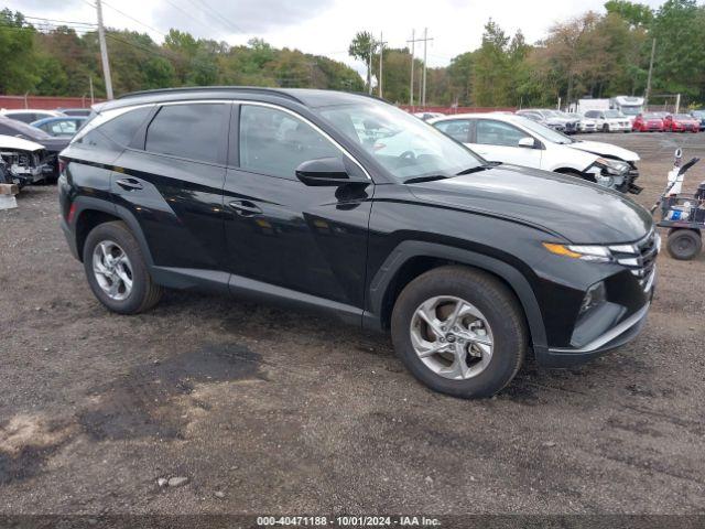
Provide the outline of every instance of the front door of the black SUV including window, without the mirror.
{"type": "Polygon", "coordinates": [[[225,210],[232,290],[361,313],[372,183],[316,187],[299,181],[302,162],[345,154],[280,107],[236,107],[229,152],[225,210]]]}

